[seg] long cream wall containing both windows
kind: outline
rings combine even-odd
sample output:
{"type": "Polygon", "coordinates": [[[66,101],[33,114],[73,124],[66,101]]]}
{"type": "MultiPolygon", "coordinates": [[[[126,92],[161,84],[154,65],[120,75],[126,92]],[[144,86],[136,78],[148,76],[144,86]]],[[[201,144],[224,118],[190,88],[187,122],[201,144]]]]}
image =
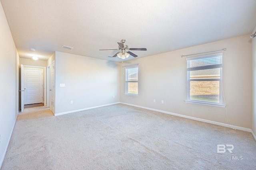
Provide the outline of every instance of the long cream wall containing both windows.
{"type": "Polygon", "coordinates": [[[252,48],[250,35],[125,62],[124,65],[139,63],[139,97],[124,95],[125,76],[120,69],[120,102],[227,123],[225,108],[184,102],[187,99],[186,57],[181,58],[181,55],[224,47],[227,50],[223,52],[223,89],[228,122],[231,125],[251,129],[252,48]],[[153,99],[156,99],[155,103],[153,99]],[[164,100],[164,104],[161,104],[161,100],[164,100]]]}

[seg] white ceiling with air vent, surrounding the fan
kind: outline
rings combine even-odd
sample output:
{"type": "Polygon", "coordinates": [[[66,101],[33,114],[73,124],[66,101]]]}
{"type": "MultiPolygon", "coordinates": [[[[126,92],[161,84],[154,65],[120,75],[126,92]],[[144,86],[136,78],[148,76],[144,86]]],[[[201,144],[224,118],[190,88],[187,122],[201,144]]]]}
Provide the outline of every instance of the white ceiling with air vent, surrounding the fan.
{"type": "Polygon", "coordinates": [[[117,49],[126,39],[130,48],[147,48],[132,51],[146,57],[250,34],[256,26],[256,0],[0,1],[20,58],[27,59],[60,51],[120,62],[107,57],[117,51],[99,49],[117,49]]]}

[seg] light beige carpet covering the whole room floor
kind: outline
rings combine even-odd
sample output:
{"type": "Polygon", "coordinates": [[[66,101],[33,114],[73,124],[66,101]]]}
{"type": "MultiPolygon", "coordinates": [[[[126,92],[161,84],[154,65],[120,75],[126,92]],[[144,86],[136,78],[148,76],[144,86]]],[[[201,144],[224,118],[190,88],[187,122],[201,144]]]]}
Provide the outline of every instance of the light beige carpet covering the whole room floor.
{"type": "Polygon", "coordinates": [[[1,170],[256,169],[251,133],[116,104],[18,115],[1,170]],[[234,145],[217,153],[217,145],[234,145]],[[242,160],[241,160],[242,156],[242,160]]]}

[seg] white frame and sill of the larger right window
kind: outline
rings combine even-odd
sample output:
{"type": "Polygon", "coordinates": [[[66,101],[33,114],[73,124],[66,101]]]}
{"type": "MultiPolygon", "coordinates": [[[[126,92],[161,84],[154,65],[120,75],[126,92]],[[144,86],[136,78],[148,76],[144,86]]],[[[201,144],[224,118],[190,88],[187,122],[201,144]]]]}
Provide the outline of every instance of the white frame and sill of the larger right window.
{"type": "MultiPolygon", "coordinates": [[[[202,56],[190,57],[190,58],[186,59],[186,61],[187,61],[187,100],[185,100],[186,103],[225,107],[225,105],[223,104],[223,100],[222,100],[222,66],[218,67],[218,68],[220,68],[220,78],[209,78],[209,79],[195,78],[195,79],[190,79],[190,71],[192,71],[192,70],[188,70],[188,62],[191,61],[191,60],[203,59],[203,58],[208,58],[208,57],[218,57],[218,56],[220,56],[221,60],[222,60],[222,55],[223,55],[223,53],[215,53],[215,54],[211,54],[211,55],[202,55],[202,56]],[[191,100],[190,99],[190,82],[192,82],[192,81],[218,81],[219,82],[219,102],[191,100]]],[[[213,67],[214,67],[214,65],[216,65],[216,64],[213,64],[213,67]]],[[[198,70],[211,69],[211,66],[202,66],[202,68],[204,68],[204,69],[198,69],[198,70]],[[205,68],[207,68],[207,69],[205,69],[205,68]]]]}

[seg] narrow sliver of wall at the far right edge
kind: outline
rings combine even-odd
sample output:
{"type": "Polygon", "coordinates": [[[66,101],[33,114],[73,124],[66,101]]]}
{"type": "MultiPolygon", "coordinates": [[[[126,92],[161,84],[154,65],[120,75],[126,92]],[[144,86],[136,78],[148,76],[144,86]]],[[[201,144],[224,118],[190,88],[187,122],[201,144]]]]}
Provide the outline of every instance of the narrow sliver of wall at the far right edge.
{"type": "Polygon", "coordinates": [[[256,140],[256,37],[252,39],[252,132],[256,140]]]}

